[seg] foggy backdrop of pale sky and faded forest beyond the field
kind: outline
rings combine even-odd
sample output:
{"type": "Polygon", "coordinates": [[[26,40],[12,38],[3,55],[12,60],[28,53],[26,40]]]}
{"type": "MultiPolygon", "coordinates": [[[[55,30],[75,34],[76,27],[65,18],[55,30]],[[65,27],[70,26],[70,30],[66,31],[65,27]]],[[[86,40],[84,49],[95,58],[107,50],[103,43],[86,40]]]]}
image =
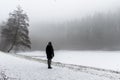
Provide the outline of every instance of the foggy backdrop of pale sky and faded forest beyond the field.
{"type": "Polygon", "coordinates": [[[4,0],[0,23],[20,5],[30,19],[32,50],[120,50],[119,0],[4,0]]]}

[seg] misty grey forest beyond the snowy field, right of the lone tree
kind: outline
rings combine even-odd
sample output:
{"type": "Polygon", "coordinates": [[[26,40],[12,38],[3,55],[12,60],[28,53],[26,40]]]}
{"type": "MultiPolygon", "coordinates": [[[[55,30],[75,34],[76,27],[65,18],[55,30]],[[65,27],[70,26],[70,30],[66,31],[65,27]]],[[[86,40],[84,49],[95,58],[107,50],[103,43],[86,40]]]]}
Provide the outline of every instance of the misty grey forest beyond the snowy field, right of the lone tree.
{"type": "Polygon", "coordinates": [[[42,26],[42,29],[38,29],[39,36],[31,36],[35,50],[44,50],[46,39],[53,41],[55,49],[120,50],[119,10],[114,13],[95,13],[63,23],[46,23],[42,26]]]}

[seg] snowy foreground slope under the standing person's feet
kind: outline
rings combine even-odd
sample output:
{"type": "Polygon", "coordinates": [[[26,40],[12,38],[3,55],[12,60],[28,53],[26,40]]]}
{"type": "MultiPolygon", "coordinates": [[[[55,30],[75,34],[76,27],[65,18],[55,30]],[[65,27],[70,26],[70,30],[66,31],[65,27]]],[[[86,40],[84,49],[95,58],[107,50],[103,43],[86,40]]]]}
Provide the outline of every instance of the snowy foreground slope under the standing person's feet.
{"type": "MultiPolygon", "coordinates": [[[[27,60],[28,57],[24,59],[15,56],[0,52],[0,72],[8,77],[6,80],[119,80],[119,73],[101,70],[97,72],[95,69],[61,63],[54,63],[57,66],[49,70],[44,60],[37,62],[35,59],[27,60]]],[[[2,75],[0,80],[1,78],[2,75]]]]}

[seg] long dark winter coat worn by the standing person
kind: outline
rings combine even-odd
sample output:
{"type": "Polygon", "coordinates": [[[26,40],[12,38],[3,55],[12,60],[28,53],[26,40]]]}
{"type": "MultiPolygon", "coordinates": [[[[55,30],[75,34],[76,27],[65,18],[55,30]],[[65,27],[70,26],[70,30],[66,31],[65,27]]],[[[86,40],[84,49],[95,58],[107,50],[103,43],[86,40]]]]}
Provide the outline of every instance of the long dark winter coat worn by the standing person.
{"type": "Polygon", "coordinates": [[[52,59],[54,57],[54,49],[52,44],[48,44],[46,47],[47,59],[52,59]]]}

